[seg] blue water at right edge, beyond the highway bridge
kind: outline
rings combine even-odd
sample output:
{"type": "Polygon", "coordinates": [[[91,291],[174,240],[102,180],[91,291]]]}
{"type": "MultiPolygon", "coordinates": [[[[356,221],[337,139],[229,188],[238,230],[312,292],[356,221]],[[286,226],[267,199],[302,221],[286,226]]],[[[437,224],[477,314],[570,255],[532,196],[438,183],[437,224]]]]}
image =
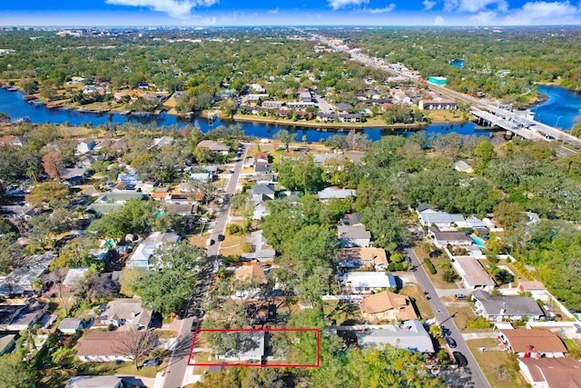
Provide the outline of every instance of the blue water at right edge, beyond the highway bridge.
{"type": "Polygon", "coordinates": [[[539,85],[548,100],[535,106],[535,120],[543,124],[571,129],[581,119],[581,94],[560,86],[539,85]]]}

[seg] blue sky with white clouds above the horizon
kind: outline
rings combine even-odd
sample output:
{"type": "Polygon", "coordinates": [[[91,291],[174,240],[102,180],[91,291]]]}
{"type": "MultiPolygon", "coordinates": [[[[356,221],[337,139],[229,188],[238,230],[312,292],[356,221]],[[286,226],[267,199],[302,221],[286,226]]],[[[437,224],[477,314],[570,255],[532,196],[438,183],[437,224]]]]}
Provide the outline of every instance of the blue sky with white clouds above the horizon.
{"type": "Polygon", "coordinates": [[[0,25],[581,25],[561,0],[25,0],[0,25]]]}

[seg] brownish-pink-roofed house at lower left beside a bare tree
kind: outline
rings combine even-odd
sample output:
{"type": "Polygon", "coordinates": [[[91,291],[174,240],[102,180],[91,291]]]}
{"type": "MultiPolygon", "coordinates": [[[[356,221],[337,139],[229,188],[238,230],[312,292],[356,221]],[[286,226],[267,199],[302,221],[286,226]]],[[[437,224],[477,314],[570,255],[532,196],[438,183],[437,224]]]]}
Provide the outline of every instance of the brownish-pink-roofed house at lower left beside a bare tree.
{"type": "Polygon", "coordinates": [[[121,350],[122,343],[136,343],[143,332],[93,332],[88,333],[77,345],[77,356],[83,363],[108,363],[132,361],[121,350]],[[137,338],[133,338],[137,337],[137,338]]]}

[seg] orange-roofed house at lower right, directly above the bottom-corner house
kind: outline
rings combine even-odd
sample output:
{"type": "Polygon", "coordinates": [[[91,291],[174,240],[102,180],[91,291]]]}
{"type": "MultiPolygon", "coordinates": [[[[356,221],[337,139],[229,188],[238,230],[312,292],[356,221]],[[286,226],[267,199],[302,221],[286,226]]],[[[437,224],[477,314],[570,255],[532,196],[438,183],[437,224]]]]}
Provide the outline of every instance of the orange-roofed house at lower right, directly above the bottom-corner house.
{"type": "Polygon", "coordinates": [[[501,330],[499,339],[507,344],[510,352],[524,358],[565,357],[566,346],[563,341],[547,329],[501,330]]]}

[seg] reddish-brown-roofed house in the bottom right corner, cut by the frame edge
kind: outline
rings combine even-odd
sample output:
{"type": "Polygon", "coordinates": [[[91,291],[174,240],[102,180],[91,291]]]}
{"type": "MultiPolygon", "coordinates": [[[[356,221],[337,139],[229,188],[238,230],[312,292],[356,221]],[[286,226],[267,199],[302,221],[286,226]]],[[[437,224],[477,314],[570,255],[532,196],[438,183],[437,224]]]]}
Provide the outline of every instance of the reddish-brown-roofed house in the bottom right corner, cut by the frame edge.
{"type": "Polygon", "coordinates": [[[572,358],[519,358],[518,369],[532,388],[581,387],[581,363],[572,358]]]}

